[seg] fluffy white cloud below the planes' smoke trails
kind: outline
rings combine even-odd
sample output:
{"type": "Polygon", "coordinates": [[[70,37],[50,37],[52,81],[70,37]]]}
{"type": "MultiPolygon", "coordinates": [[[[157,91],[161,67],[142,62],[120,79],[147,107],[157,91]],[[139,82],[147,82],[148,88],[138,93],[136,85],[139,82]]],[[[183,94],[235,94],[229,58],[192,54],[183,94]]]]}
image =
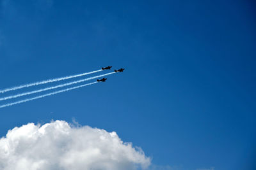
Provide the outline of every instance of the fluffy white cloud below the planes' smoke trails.
{"type": "Polygon", "coordinates": [[[0,139],[0,169],[140,169],[150,159],[140,148],[123,143],[116,132],[71,127],[65,121],[27,124],[0,139]]]}

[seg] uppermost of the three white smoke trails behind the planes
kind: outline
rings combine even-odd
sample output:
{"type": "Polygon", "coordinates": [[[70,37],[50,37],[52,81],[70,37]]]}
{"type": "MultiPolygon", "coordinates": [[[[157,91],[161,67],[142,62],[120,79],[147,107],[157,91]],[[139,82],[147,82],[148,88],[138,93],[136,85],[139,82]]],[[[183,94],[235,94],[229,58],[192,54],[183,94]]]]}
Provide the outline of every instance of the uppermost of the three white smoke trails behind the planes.
{"type": "Polygon", "coordinates": [[[54,81],[67,80],[69,78],[76,78],[76,77],[79,77],[79,76],[85,76],[87,74],[97,73],[99,71],[102,71],[102,69],[99,69],[97,71],[91,71],[91,72],[88,72],[88,73],[76,74],[76,75],[72,75],[72,76],[65,76],[65,77],[61,77],[61,78],[53,78],[53,79],[44,80],[44,81],[37,81],[35,83],[29,83],[29,84],[26,84],[26,85],[20,85],[20,86],[17,86],[17,87],[11,87],[11,88],[8,88],[8,89],[3,89],[3,90],[0,90],[0,93],[9,92],[9,91],[12,91],[12,90],[17,90],[17,89],[22,89],[24,87],[42,85],[42,84],[51,83],[51,82],[54,82],[54,81]]]}

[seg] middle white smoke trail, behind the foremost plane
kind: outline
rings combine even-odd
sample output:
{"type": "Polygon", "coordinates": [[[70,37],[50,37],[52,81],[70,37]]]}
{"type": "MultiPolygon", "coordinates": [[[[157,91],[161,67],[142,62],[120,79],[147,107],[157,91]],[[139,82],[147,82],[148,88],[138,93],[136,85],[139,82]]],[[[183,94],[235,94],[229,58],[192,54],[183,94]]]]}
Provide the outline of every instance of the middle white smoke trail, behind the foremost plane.
{"type": "Polygon", "coordinates": [[[81,83],[83,81],[92,80],[94,78],[99,78],[99,77],[102,77],[102,76],[108,76],[109,74],[114,74],[114,73],[115,72],[111,72],[111,73],[107,73],[107,74],[101,74],[99,76],[93,76],[93,77],[90,77],[90,78],[84,78],[82,80],[72,81],[70,83],[56,85],[56,86],[53,86],[53,87],[47,87],[45,89],[39,89],[39,90],[31,91],[31,92],[25,92],[25,93],[21,93],[21,94],[16,94],[16,95],[13,95],[13,96],[2,97],[2,98],[0,98],[0,101],[5,101],[7,99],[13,99],[13,98],[16,98],[16,97],[21,97],[21,96],[26,96],[26,95],[29,95],[29,94],[35,94],[35,93],[38,93],[38,92],[44,92],[46,90],[57,89],[57,88],[65,87],[65,86],[68,86],[68,85],[74,85],[74,84],[77,84],[77,83],[81,83]]]}

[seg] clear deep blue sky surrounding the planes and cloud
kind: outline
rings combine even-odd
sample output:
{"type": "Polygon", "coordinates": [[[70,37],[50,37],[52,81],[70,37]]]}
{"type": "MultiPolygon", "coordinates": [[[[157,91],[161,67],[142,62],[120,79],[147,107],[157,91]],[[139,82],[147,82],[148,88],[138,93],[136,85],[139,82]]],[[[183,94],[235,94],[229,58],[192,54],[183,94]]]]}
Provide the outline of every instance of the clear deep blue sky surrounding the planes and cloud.
{"type": "Polygon", "coordinates": [[[1,136],[74,118],[116,131],[159,166],[255,168],[253,1],[0,5],[1,89],[125,67],[106,83],[2,108],[1,136]]]}

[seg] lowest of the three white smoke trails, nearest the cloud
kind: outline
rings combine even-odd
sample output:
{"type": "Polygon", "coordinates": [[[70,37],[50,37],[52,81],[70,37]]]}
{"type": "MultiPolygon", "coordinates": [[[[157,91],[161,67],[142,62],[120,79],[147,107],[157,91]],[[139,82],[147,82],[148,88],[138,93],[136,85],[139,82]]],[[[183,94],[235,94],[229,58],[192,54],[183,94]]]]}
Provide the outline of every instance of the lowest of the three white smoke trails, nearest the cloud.
{"type": "Polygon", "coordinates": [[[84,85],[79,85],[79,86],[76,86],[76,87],[71,87],[71,88],[64,89],[64,90],[59,90],[59,91],[56,91],[56,92],[51,92],[49,94],[44,94],[42,96],[37,96],[37,97],[29,98],[29,99],[24,99],[22,101],[17,101],[17,102],[13,102],[13,103],[7,103],[7,104],[4,104],[4,105],[1,105],[0,108],[5,108],[5,107],[8,107],[8,106],[12,106],[14,104],[25,103],[27,101],[33,101],[35,99],[40,99],[42,97],[52,96],[54,94],[59,94],[59,93],[62,93],[62,92],[67,92],[69,90],[74,90],[74,89],[78,89],[78,88],[81,88],[81,87],[84,87],[84,86],[93,85],[95,83],[98,83],[98,81],[95,81],[93,83],[87,83],[87,84],[84,84],[84,85]]]}

